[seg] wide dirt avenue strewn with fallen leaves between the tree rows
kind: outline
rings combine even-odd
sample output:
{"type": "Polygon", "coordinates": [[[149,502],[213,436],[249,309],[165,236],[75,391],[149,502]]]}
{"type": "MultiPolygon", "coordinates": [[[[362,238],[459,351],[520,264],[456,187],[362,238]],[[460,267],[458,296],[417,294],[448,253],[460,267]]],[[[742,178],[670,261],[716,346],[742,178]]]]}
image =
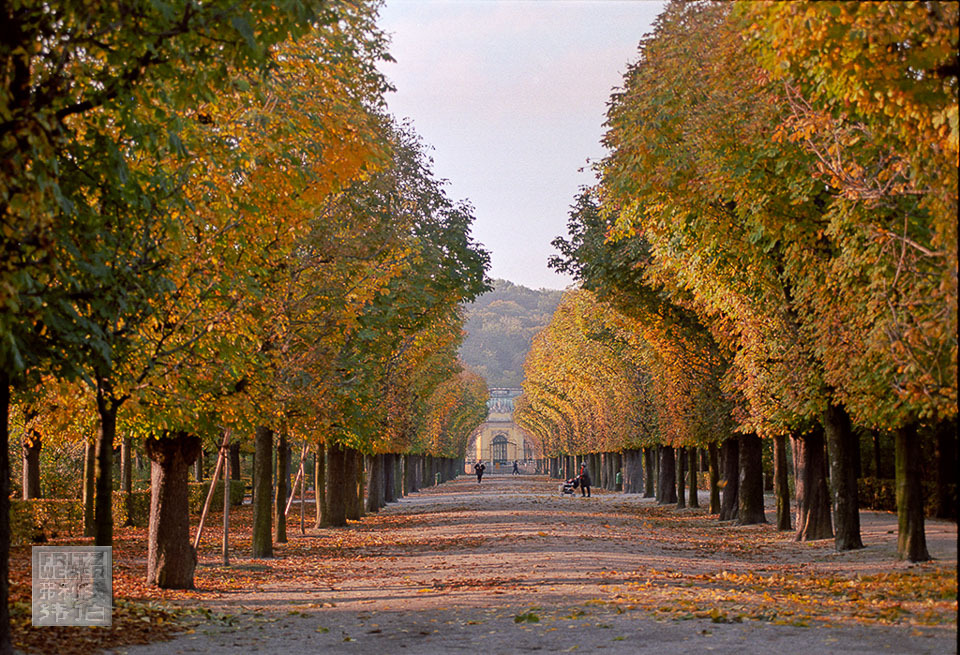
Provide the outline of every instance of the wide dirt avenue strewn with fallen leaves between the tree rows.
{"type": "Polygon", "coordinates": [[[928,522],[935,561],[909,565],[895,516],[861,521],[866,548],[838,554],[703,509],[462,477],[345,530],[291,526],[277,558],[218,571],[258,581],[201,586],[184,633],[114,652],[956,653],[957,525],[928,522]]]}

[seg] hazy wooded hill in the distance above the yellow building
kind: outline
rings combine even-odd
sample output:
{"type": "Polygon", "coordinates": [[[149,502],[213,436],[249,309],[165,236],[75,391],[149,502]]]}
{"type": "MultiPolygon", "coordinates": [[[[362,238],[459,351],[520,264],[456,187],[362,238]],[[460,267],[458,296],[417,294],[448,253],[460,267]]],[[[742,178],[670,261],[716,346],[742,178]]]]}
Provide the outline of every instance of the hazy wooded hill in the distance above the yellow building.
{"type": "Polygon", "coordinates": [[[467,305],[460,358],[490,387],[519,387],[530,343],[550,322],[562,294],[494,280],[492,291],[467,305]]]}

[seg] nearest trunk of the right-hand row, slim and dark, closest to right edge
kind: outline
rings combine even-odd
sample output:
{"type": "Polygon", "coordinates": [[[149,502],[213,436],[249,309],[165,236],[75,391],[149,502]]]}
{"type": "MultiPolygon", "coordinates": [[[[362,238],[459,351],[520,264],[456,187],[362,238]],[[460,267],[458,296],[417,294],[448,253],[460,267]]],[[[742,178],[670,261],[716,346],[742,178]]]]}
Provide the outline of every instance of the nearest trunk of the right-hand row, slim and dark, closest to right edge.
{"type": "Polygon", "coordinates": [[[920,484],[922,452],[917,426],[906,425],[894,436],[897,474],[897,557],[909,562],[926,562],[927,537],[924,533],[923,488],[920,484]]]}

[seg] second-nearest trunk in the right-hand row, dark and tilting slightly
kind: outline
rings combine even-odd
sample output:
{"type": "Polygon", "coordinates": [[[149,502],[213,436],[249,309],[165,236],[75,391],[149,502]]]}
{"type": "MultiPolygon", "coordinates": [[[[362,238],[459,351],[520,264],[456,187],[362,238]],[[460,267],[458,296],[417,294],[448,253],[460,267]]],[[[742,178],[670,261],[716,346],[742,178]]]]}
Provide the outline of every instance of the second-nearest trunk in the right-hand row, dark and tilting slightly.
{"type": "Polygon", "coordinates": [[[850,417],[831,404],[823,417],[830,453],[830,486],[833,488],[834,544],[838,551],[863,548],[860,539],[860,502],[857,493],[857,437],[850,417]]]}

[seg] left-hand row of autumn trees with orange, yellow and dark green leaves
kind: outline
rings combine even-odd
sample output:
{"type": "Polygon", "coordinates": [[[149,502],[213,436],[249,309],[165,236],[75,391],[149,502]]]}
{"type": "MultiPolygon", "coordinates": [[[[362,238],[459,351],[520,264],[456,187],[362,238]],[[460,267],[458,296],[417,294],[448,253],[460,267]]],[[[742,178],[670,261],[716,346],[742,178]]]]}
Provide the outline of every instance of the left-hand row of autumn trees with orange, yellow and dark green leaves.
{"type": "Polygon", "coordinates": [[[385,111],[376,10],[5,5],[0,652],[11,406],[28,455],[96,433],[98,545],[121,440],[153,460],[156,535],[185,510],[198,435],[452,456],[482,421],[456,351],[489,258],[385,111]]]}

